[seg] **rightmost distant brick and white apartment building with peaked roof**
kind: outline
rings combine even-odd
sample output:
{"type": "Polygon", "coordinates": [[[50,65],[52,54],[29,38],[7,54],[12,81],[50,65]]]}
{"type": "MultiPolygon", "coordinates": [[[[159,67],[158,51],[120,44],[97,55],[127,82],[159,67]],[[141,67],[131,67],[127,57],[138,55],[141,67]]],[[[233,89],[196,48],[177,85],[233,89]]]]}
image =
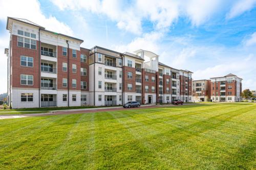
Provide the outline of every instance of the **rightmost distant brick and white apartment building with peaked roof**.
{"type": "Polygon", "coordinates": [[[210,78],[212,102],[240,102],[242,100],[242,80],[236,75],[210,78]]]}

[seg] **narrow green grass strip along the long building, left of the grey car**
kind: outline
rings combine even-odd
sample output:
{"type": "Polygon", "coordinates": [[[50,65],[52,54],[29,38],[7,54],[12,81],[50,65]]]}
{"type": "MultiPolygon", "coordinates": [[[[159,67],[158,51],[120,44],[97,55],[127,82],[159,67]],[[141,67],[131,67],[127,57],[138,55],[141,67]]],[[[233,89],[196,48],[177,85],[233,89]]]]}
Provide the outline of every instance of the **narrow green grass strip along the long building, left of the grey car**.
{"type": "Polygon", "coordinates": [[[1,112],[7,111],[49,111],[49,110],[71,110],[71,109],[89,109],[101,107],[117,107],[117,106],[71,106],[71,107],[41,107],[41,108],[22,108],[22,109],[1,109],[1,112]]]}

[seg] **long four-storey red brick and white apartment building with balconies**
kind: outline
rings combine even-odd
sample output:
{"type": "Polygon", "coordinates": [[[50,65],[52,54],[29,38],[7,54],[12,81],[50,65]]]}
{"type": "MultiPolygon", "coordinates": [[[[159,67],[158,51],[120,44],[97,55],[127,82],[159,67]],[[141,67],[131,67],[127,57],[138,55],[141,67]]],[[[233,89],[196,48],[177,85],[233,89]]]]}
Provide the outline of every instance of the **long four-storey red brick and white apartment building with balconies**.
{"type": "Polygon", "coordinates": [[[193,72],[159,62],[153,52],[119,53],[8,17],[8,95],[12,108],[192,101],[193,72]]]}

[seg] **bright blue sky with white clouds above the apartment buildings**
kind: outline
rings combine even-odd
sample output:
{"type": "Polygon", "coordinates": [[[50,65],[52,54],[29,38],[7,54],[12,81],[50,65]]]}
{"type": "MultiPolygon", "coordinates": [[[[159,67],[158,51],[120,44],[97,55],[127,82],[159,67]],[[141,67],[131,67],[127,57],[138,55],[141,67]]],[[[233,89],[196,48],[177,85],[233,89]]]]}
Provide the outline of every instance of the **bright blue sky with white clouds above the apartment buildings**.
{"type": "Polygon", "coordinates": [[[7,92],[7,16],[83,39],[86,48],[152,51],[194,80],[232,73],[256,90],[256,0],[0,0],[0,7],[0,93],[7,92]]]}

